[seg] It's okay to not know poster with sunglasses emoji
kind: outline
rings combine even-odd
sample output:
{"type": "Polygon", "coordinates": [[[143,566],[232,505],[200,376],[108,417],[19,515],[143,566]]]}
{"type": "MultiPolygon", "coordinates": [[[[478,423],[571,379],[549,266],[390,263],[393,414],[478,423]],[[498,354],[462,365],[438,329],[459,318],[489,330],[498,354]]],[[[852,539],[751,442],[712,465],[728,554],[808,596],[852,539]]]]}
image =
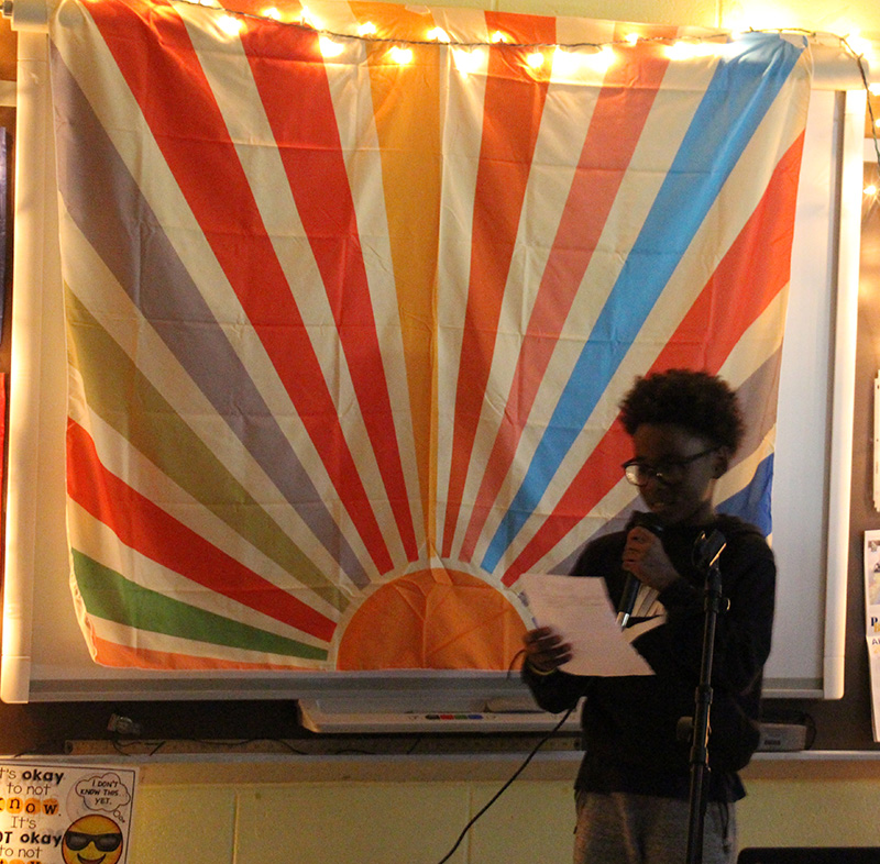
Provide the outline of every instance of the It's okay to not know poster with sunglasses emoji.
{"type": "Polygon", "coordinates": [[[0,863],[125,864],[136,768],[0,762],[0,863]]]}

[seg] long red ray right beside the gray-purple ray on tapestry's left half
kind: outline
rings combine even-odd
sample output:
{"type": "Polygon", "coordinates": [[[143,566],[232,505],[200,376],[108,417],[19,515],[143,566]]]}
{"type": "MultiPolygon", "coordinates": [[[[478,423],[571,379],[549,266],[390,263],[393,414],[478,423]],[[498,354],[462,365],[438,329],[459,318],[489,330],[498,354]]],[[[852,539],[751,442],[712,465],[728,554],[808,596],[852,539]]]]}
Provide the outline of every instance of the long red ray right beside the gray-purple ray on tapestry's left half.
{"type": "Polygon", "coordinates": [[[158,0],[88,8],[373,562],[389,571],[391,555],[307,329],[186,27],[158,0]]]}

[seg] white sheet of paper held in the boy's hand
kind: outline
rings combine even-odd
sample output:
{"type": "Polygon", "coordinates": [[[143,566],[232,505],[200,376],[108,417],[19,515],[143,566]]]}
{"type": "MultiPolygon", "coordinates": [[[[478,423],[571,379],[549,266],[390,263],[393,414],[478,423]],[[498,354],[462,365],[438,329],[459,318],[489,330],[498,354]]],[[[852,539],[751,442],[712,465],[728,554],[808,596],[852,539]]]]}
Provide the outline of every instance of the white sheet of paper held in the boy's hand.
{"type": "MultiPolygon", "coordinates": [[[[539,627],[552,627],[572,646],[573,656],[561,666],[572,675],[653,675],[629,639],[620,632],[603,579],[525,573],[519,579],[524,600],[539,627]]],[[[638,632],[662,619],[638,625],[638,632]]],[[[634,628],[636,630],[636,628],[634,628]]]]}

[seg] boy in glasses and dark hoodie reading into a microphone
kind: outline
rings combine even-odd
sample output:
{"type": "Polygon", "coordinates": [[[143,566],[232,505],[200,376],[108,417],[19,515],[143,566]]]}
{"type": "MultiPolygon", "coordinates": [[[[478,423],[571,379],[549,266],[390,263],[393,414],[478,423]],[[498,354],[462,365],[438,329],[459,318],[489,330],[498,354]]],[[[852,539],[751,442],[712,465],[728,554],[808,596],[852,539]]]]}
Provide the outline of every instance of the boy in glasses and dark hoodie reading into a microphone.
{"type": "Polygon", "coordinates": [[[573,576],[604,578],[618,603],[627,574],[639,592],[630,623],[663,616],[634,646],[653,675],[582,677],[559,667],[570,646],[551,628],[525,636],[522,677],[538,704],[562,711],[586,697],[586,753],[575,784],[574,864],[681,864],[690,815],[689,735],[703,646],[705,574],[701,536],[726,540],[718,566],[729,603],[717,622],[708,741],[703,861],[736,859],[737,772],[758,744],[763,664],[770,653],[776,566],[760,532],[716,514],[713,491],[743,437],[736,396],[705,373],[670,370],[637,379],[620,405],[635,455],[625,463],[651,527],[631,524],[590,543],[573,576]]]}

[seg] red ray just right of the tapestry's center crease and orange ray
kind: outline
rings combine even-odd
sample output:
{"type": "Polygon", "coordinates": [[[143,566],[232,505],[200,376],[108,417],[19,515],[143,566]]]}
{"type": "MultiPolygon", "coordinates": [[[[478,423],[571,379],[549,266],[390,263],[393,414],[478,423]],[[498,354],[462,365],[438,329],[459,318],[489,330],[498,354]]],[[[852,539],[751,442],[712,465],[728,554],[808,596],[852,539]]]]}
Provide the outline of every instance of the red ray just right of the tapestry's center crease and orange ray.
{"type": "MultiPolygon", "coordinates": [[[[552,43],[553,19],[486,12],[490,33],[521,43],[552,43]]],[[[536,81],[525,63],[528,48],[490,49],[483,140],[476,176],[471,277],[462,334],[449,494],[442,554],[449,556],[468,465],[488,381],[504,288],[535,154],[548,80],[536,81]]],[[[544,76],[547,73],[544,71],[544,76]]]]}

